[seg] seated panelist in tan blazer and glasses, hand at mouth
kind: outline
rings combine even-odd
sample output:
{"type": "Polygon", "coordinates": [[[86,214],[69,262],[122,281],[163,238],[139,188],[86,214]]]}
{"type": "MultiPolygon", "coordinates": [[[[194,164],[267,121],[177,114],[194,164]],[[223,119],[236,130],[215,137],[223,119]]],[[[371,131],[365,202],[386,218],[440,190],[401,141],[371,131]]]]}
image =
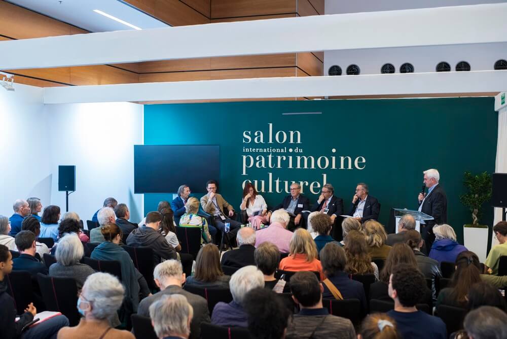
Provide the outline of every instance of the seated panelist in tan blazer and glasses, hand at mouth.
{"type": "Polygon", "coordinates": [[[201,197],[202,209],[212,215],[213,225],[208,225],[209,232],[213,235],[217,228],[223,232],[225,223],[228,222],[231,224],[230,232],[235,237],[241,223],[231,219],[234,215],[234,207],[221,194],[216,193],[217,186],[216,181],[209,180],[206,183],[208,193],[201,197]]]}

